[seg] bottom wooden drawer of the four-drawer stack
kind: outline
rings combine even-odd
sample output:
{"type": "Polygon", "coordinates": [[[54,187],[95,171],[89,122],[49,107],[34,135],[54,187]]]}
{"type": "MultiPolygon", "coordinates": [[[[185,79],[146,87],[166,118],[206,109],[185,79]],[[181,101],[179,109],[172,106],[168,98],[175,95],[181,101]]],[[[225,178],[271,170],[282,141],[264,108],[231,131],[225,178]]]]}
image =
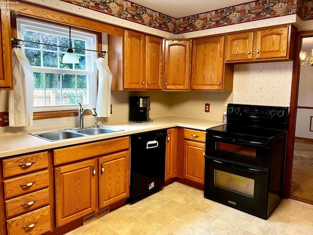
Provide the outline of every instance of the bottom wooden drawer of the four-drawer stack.
{"type": "Polygon", "coordinates": [[[6,221],[8,235],[41,235],[51,230],[50,206],[6,221]]]}

